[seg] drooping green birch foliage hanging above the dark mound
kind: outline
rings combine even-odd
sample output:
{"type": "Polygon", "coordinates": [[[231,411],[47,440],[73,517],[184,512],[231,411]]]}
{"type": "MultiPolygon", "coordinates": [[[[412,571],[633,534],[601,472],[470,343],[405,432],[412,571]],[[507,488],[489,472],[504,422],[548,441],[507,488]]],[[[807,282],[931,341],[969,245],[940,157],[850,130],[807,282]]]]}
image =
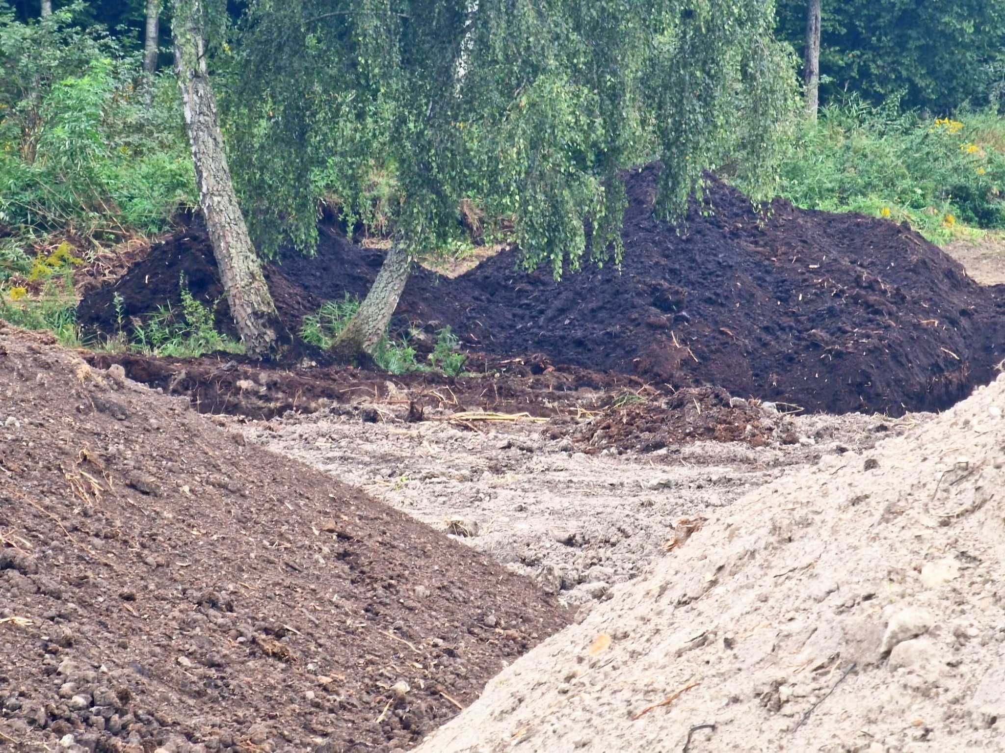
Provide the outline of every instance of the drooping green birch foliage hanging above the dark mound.
{"type": "Polygon", "coordinates": [[[729,161],[758,197],[775,185],[794,75],[771,0],[247,8],[224,105],[266,250],[312,248],[319,201],[362,214],[371,176],[386,174],[398,198],[380,213],[413,255],[455,242],[471,200],[512,219],[528,266],[559,275],[588,251],[620,256],[618,171],[640,161],[663,161],[668,217],[729,161]]]}

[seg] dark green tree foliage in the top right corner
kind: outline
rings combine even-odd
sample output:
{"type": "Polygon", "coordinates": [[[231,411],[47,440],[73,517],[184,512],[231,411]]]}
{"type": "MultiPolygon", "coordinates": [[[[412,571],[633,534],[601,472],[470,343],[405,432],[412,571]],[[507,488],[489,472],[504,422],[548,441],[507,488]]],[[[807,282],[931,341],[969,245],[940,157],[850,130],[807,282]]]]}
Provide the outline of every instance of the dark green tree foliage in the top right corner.
{"type": "MultiPolygon", "coordinates": [[[[803,49],[806,0],[779,0],[778,34],[803,49]]],[[[821,7],[821,102],[854,91],[873,103],[949,113],[997,106],[1005,0],[845,0],[821,7]]]]}

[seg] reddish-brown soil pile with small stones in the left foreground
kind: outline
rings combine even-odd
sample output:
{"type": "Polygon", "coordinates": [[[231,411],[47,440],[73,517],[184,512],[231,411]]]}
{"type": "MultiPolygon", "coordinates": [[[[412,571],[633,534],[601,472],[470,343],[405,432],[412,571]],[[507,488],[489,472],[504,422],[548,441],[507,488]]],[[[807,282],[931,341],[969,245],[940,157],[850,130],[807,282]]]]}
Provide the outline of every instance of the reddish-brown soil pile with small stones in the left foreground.
{"type": "Polygon", "coordinates": [[[564,624],[116,372],[0,325],[0,748],[407,748],[564,624]]]}

